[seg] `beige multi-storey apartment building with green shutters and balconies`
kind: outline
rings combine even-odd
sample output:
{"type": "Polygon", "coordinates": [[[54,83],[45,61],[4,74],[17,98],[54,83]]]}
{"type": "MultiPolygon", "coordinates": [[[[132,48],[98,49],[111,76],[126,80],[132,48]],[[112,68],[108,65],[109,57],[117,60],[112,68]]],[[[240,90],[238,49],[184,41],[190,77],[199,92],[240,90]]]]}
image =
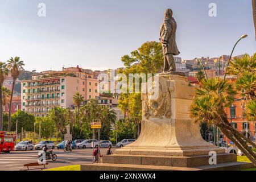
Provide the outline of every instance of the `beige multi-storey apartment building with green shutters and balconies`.
{"type": "Polygon", "coordinates": [[[36,117],[48,116],[49,110],[59,106],[68,108],[73,104],[76,92],[85,100],[99,96],[98,80],[92,72],[77,67],[63,68],[63,71],[44,71],[22,81],[22,110],[36,117]]]}

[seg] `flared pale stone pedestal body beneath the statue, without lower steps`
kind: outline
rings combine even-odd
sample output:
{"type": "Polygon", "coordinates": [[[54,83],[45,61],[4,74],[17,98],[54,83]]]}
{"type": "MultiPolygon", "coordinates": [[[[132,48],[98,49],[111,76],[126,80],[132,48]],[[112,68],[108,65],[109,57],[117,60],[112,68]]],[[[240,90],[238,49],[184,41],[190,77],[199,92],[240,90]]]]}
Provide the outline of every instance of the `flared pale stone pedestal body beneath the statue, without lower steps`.
{"type": "Polygon", "coordinates": [[[170,102],[169,108],[161,107],[161,109],[170,109],[168,110],[170,114],[159,116],[157,112],[162,110],[154,109],[154,101],[148,101],[148,98],[143,96],[141,134],[134,143],[116,150],[115,154],[191,156],[208,155],[209,151],[225,152],[223,148],[205,142],[201,137],[199,125],[189,118],[189,107],[195,87],[189,86],[187,77],[161,75],[159,90],[159,97],[160,94],[163,96],[158,102],[162,100],[170,102]],[[146,107],[151,107],[150,105],[152,110],[145,110],[146,107]]]}

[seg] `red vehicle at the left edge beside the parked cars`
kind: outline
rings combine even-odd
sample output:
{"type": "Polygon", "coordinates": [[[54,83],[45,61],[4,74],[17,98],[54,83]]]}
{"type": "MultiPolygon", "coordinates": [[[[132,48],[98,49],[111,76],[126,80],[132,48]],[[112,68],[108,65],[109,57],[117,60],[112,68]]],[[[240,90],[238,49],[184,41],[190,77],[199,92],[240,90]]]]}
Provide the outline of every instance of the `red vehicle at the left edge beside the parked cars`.
{"type": "Polygon", "coordinates": [[[15,140],[15,132],[0,131],[0,152],[9,153],[10,151],[13,151],[15,140]]]}

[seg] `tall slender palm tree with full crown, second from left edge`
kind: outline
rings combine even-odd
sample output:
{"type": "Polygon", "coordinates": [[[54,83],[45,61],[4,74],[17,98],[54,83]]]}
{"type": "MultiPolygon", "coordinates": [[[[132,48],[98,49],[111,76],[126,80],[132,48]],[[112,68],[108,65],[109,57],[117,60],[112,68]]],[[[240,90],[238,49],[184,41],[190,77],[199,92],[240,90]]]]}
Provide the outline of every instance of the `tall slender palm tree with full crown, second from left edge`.
{"type": "Polygon", "coordinates": [[[18,79],[20,75],[20,71],[23,69],[24,63],[23,61],[20,61],[20,57],[11,57],[10,60],[7,61],[7,67],[10,70],[11,76],[13,77],[13,87],[11,88],[11,98],[10,98],[10,104],[9,104],[9,117],[8,117],[8,131],[11,131],[11,104],[13,102],[13,92],[14,92],[14,86],[15,82],[18,79]]]}

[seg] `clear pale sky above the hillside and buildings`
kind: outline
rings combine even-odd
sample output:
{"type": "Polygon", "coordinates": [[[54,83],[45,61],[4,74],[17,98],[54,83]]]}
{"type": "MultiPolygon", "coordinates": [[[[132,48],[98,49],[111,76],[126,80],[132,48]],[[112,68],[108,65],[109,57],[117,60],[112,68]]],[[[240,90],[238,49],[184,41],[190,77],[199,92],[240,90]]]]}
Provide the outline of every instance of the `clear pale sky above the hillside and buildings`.
{"type": "Polygon", "coordinates": [[[229,55],[242,34],[249,36],[234,55],[256,52],[250,0],[0,0],[0,60],[20,56],[29,71],[122,67],[121,56],[158,41],[167,8],[174,11],[183,59],[229,55]]]}

